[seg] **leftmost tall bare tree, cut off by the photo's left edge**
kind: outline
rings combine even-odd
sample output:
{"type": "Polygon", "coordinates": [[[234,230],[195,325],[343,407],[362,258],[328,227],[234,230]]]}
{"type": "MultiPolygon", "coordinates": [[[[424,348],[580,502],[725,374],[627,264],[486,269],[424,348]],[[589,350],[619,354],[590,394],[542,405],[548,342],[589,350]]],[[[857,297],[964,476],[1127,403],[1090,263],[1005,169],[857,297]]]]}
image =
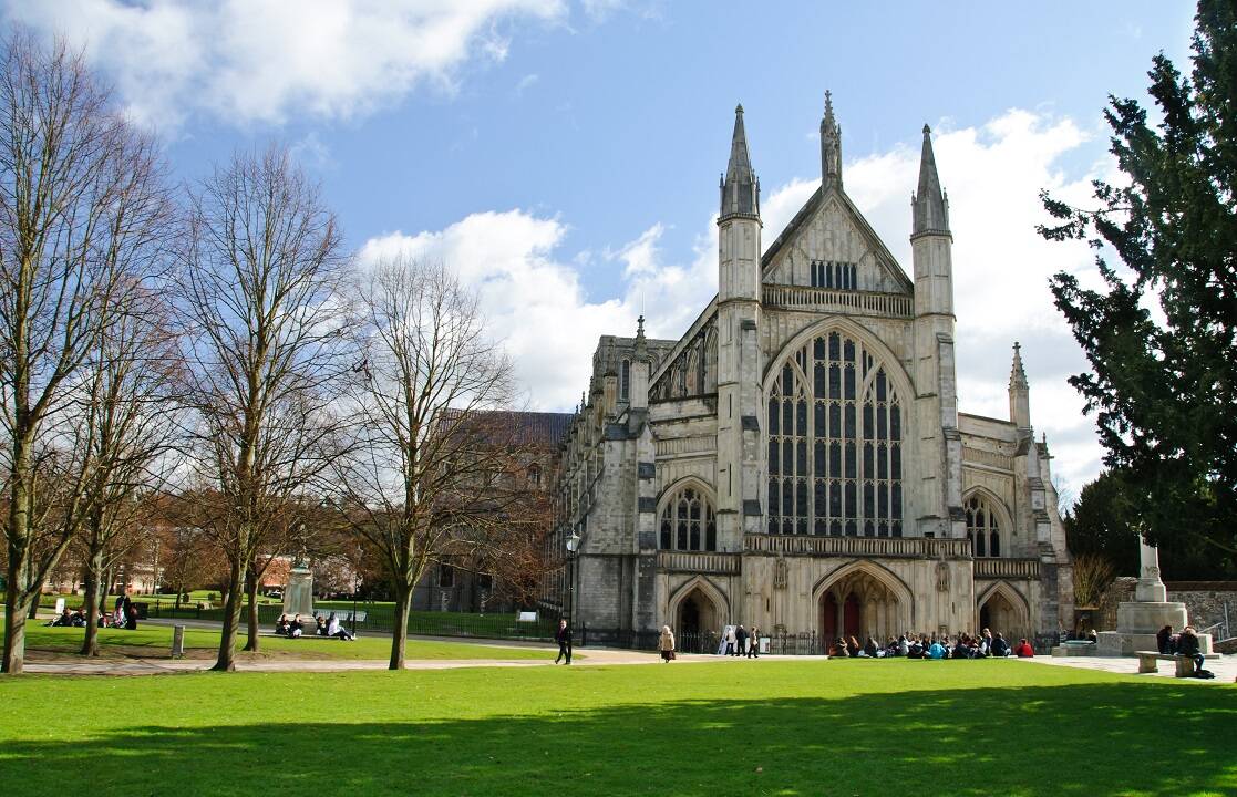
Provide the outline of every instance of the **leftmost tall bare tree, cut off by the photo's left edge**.
{"type": "Polygon", "coordinates": [[[90,462],[83,432],[63,423],[71,388],[105,308],[140,287],[126,267],[151,246],[150,214],[166,194],[152,140],[125,121],[80,53],[14,30],[0,65],[0,470],[9,498],[0,668],[17,673],[31,602],[84,520],[90,462]],[[57,489],[37,484],[41,472],[57,489]]]}

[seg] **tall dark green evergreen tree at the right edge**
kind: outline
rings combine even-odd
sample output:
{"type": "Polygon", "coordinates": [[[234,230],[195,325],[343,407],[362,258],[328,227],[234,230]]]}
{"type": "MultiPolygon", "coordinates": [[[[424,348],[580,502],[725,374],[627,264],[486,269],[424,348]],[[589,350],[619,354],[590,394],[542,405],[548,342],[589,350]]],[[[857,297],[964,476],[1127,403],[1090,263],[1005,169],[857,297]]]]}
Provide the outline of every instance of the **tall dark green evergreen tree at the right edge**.
{"type": "Polygon", "coordinates": [[[1094,368],[1070,378],[1096,415],[1153,542],[1205,540],[1237,562],[1237,6],[1200,0],[1192,70],[1154,58],[1160,119],[1110,98],[1128,184],[1095,182],[1095,209],[1044,194],[1049,240],[1085,240],[1103,288],[1051,280],[1094,368]],[[1112,256],[1119,259],[1115,264],[1112,256]]]}

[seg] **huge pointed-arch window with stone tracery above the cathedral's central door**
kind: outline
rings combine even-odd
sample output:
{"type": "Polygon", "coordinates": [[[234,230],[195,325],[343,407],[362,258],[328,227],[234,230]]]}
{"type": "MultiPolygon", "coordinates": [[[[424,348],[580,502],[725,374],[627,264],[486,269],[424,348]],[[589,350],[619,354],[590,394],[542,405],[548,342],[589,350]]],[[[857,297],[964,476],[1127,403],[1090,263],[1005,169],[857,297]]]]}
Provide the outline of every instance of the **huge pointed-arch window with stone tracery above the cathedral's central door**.
{"type": "Polygon", "coordinates": [[[787,358],[768,397],[768,533],[902,536],[903,418],[884,367],[846,335],[787,358]]]}

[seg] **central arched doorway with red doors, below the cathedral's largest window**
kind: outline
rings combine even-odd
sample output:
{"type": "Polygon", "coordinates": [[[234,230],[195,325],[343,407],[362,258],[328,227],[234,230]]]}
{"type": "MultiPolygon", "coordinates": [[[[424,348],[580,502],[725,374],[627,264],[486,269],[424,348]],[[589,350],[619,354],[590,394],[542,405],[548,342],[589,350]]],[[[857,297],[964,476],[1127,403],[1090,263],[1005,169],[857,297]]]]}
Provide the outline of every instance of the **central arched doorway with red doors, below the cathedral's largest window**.
{"type": "Polygon", "coordinates": [[[892,575],[867,566],[844,568],[820,593],[820,635],[886,641],[909,630],[910,593],[892,575]],[[887,577],[886,577],[887,576],[887,577]]]}

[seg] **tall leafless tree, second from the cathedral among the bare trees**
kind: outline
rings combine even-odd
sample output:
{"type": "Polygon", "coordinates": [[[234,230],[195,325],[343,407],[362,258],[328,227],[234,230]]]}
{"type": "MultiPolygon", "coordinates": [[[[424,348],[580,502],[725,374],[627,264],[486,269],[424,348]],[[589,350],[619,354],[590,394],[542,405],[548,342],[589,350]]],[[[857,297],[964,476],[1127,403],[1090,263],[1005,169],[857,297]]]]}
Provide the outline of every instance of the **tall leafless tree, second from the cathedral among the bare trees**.
{"type": "MultiPolygon", "coordinates": [[[[287,152],[238,153],[190,192],[179,302],[189,332],[203,528],[229,562],[216,670],[235,668],[241,599],[283,502],[327,461],[348,327],[339,224],[287,152]]],[[[256,613],[251,613],[251,624],[256,613]]],[[[257,628],[250,628],[251,646],[257,628]]]]}

